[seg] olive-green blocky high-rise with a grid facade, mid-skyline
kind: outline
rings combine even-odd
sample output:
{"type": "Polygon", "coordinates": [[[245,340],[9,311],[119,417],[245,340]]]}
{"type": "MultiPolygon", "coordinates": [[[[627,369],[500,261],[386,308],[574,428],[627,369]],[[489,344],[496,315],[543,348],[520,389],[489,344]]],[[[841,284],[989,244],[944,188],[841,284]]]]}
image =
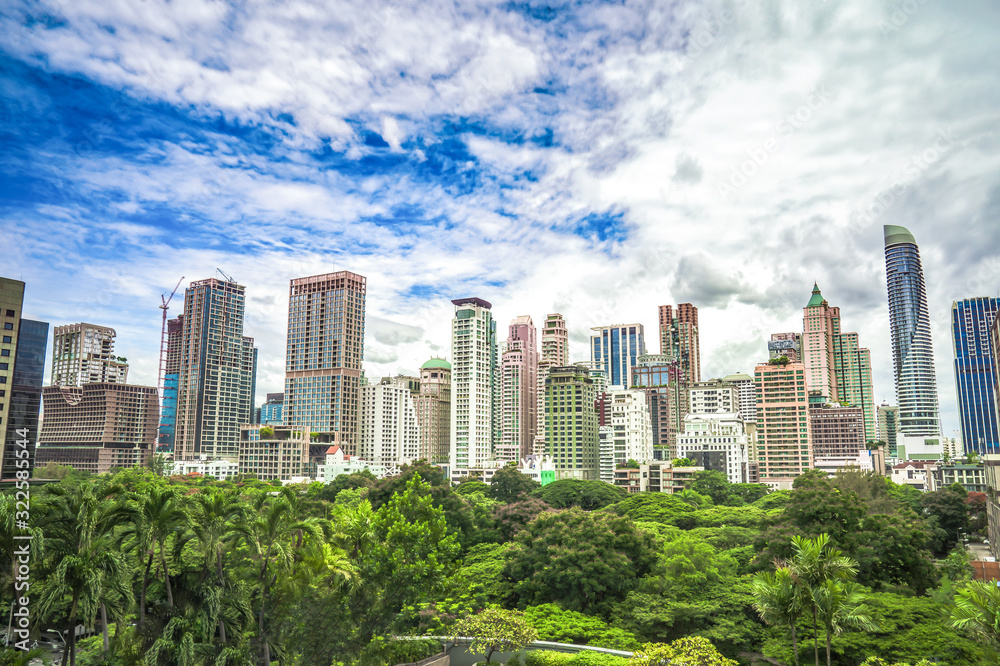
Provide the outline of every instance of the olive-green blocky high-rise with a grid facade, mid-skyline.
{"type": "Polygon", "coordinates": [[[585,365],[549,370],[545,379],[545,442],[556,479],[598,478],[595,397],[594,380],[585,365]]]}

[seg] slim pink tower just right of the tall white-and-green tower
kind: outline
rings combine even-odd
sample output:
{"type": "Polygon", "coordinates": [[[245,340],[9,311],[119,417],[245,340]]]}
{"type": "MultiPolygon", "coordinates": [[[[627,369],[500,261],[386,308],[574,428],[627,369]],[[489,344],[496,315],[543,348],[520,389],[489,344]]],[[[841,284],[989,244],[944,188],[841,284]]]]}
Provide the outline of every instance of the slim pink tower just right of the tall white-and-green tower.
{"type": "Polygon", "coordinates": [[[538,429],[538,340],[531,317],[510,323],[500,357],[500,444],[496,457],[517,462],[531,455],[538,429]]]}

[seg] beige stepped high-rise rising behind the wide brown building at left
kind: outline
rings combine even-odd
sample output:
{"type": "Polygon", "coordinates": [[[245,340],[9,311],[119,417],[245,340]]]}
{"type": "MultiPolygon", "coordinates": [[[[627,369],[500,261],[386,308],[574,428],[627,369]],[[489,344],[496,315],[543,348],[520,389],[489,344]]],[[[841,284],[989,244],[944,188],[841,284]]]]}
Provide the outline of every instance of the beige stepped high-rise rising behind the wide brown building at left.
{"type": "Polygon", "coordinates": [[[69,324],[56,326],[52,337],[53,386],[128,382],[128,361],[115,356],[115,329],[69,324]]]}

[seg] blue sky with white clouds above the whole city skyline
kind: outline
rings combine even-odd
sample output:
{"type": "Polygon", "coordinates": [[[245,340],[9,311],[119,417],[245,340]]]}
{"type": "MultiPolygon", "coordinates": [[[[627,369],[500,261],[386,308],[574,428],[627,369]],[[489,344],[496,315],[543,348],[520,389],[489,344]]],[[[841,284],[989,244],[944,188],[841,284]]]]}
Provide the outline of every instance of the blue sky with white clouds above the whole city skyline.
{"type": "Polygon", "coordinates": [[[115,327],[152,384],[160,294],[221,268],[263,396],[288,280],[352,270],[369,376],[447,356],[476,295],[501,326],[562,312],[580,360],[591,326],[692,302],[707,377],[800,330],[817,280],[892,402],[902,224],[957,428],[951,301],[1000,288],[996,3],[332,7],[4,4],[0,273],[29,315],[115,327]]]}

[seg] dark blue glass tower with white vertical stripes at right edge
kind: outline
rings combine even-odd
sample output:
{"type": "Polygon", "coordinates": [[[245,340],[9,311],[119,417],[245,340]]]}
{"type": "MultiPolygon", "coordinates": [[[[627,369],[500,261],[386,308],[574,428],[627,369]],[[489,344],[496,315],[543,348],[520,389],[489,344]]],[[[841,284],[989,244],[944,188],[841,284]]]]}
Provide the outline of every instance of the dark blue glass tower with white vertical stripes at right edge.
{"type": "Polygon", "coordinates": [[[995,348],[990,330],[1000,300],[967,298],[951,304],[951,338],[955,350],[955,382],[962,441],[966,451],[1000,453],[997,429],[995,348]]]}

